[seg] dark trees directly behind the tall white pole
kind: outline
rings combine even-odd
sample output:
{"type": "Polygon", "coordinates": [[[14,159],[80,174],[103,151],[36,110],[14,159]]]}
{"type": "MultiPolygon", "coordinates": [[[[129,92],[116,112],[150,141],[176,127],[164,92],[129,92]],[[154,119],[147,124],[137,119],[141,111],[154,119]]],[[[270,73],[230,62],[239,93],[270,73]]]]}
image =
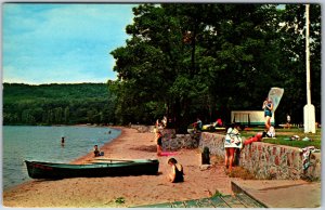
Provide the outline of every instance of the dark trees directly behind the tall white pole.
{"type": "MultiPolygon", "coordinates": [[[[306,73],[306,4],[286,4],[282,12],[281,67],[285,78],[284,106],[280,106],[283,119],[291,115],[296,122],[303,121],[307,104],[306,73]]],[[[310,63],[311,94],[315,106],[316,121],[321,121],[321,5],[310,6],[310,63]]]]}

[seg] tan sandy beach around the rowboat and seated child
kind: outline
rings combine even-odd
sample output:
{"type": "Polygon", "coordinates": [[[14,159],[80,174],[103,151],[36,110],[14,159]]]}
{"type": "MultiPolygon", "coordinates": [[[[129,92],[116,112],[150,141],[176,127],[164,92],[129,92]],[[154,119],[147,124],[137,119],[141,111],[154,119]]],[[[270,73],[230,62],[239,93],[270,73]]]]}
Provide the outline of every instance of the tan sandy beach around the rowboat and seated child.
{"type": "MultiPolygon", "coordinates": [[[[223,171],[222,162],[208,170],[200,170],[198,149],[181,149],[174,157],[184,167],[185,182],[170,183],[167,160],[157,157],[154,133],[140,133],[135,129],[118,128],[121,134],[100,149],[104,158],[142,159],[157,158],[157,175],[74,178],[56,181],[32,180],[3,192],[4,207],[63,207],[63,208],[117,208],[188,200],[211,196],[218,191],[231,195],[231,179],[223,171]],[[117,202],[123,199],[125,202],[117,202]]],[[[83,163],[93,154],[77,159],[83,163]]]]}

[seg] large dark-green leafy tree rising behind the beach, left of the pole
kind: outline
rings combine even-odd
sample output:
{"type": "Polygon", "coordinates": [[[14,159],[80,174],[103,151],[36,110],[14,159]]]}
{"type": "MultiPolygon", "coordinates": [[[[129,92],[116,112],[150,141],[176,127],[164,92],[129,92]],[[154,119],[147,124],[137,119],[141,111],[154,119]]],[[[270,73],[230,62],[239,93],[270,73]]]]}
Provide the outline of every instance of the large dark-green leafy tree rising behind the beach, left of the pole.
{"type": "Polygon", "coordinates": [[[288,43],[297,43],[294,34],[281,30],[287,10],[216,3],[134,8],[127,26],[131,38],[112,52],[122,119],[145,123],[165,114],[185,132],[197,116],[210,122],[220,110],[218,117],[230,121],[230,110],[260,109],[270,88],[299,82],[286,74],[295,60],[288,43]]]}

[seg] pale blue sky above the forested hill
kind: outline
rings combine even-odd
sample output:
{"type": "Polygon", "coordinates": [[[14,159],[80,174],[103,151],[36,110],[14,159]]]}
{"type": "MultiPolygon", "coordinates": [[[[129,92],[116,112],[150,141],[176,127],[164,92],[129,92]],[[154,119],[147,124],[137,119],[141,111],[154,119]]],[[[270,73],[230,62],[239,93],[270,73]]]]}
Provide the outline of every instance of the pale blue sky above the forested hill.
{"type": "Polygon", "coordinates": [[[2,81],[80,83],[117,79],[113,50],[126,45],[123,3],[3,3],[2,81]]]}

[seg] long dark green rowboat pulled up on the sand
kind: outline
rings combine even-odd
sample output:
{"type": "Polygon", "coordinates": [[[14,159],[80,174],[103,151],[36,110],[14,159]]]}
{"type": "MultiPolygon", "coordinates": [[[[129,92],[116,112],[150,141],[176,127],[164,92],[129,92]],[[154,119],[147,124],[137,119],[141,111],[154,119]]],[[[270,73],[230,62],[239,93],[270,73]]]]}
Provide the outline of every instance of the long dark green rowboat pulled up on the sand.
{"type": "Polygon", "coordinates": [[[68,165],[25,160],[28,175],[32,179],[100,178],[122,175],[156,175],[159,161],[134,160],[122,162],[94,162],[89,165],[68,165]]]}

